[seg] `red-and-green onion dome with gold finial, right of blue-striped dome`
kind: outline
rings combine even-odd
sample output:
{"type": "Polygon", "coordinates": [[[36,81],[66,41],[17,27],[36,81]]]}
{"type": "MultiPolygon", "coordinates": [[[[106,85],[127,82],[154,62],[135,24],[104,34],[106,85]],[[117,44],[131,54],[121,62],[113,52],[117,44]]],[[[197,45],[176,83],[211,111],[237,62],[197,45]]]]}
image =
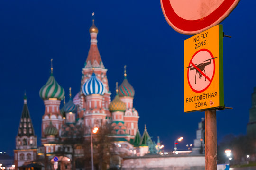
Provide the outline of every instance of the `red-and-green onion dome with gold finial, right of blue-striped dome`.
{"type": "Polygon", "coordinates": [[[126,76],[126,66],[124,66],[125,68],[125,73],[124,73],[124,81],[122,82],[122,84],[119,86],[118,88],[118,95],[120,97],[124,97],[124,96],[128,96],[128,97],[134,97],[134,89],[133,87],[129,84],[126,76]]]}

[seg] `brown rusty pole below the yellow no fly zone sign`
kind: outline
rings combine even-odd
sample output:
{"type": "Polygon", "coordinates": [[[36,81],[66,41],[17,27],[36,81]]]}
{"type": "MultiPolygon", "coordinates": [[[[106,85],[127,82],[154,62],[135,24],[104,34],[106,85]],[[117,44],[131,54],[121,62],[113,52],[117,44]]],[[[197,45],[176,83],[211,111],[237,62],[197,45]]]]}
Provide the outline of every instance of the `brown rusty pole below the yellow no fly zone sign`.
{"type": "Polygon", "coordinates": [[[205,110],[205,170],[217,170],[216,110],[205,110]]]}

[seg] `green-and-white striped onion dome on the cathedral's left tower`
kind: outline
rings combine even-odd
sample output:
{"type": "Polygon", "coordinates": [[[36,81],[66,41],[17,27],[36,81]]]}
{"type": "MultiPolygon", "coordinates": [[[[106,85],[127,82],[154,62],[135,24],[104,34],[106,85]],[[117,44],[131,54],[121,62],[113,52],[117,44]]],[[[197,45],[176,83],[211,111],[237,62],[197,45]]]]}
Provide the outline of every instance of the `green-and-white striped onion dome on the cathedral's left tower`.
{"type": "Polygon", "coordinates": [[[64,89],[56,82],[52,73],[47,83],[39,91],[39,95],[42,99],[62,99],[64,97],[64,94],[64,89]]]}

